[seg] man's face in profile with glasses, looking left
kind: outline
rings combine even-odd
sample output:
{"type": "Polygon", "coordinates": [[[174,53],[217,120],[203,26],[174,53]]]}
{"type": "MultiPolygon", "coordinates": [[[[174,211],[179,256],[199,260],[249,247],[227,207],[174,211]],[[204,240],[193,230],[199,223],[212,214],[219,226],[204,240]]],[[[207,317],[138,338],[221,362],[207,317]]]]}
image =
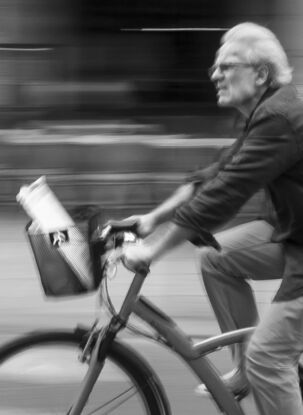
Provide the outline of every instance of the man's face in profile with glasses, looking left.
{"type": "Polygon", "coordinates": [[[249,113],[259,98],[258,68],[247,61],[243,46],[239,44],[226,43],[219,49],[210,77],[221,107],[234,107],[249,113]]]}

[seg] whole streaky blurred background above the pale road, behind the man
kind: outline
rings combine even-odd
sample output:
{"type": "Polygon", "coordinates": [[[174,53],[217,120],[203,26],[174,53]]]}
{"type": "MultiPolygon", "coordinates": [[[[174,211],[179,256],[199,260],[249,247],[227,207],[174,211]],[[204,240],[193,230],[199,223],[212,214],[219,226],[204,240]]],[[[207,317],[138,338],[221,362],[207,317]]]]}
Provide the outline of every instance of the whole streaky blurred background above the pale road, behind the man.
{"type": "Polygon", "coordinates": [[[224,31],[271,28],[301,91],[302,15],[300,0],[0,0],[0,206],[46,174],[67,205],[149,209],[236,136],[207,75],[224,31]]]}

